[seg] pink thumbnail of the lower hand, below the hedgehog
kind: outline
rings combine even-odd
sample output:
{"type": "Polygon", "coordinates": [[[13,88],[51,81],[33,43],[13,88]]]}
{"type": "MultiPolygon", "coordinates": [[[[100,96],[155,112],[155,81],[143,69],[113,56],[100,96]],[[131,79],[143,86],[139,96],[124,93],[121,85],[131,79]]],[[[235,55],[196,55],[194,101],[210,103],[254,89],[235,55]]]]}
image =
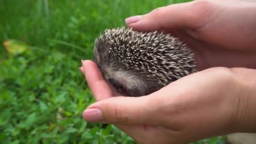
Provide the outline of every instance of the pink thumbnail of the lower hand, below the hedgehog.
{"type": "Polygon", "coordinates": [[[103,116],[100,109],[86,109],[83,112],[83,118],[90,122],[102,122],[103,116]]]}

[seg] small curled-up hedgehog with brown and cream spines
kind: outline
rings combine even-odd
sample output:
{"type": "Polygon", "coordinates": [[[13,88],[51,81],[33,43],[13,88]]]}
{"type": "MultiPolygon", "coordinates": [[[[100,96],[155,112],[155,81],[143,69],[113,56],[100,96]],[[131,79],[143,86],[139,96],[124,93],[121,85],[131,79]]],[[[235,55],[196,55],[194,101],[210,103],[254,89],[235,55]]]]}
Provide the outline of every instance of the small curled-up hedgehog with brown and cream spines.
{"type": "Polygon", "coordinates": [[[125,96],[145,96],[197,72],[194,53],[178,38],[125,27],[96,38],[94,61],[125,96]]]}

